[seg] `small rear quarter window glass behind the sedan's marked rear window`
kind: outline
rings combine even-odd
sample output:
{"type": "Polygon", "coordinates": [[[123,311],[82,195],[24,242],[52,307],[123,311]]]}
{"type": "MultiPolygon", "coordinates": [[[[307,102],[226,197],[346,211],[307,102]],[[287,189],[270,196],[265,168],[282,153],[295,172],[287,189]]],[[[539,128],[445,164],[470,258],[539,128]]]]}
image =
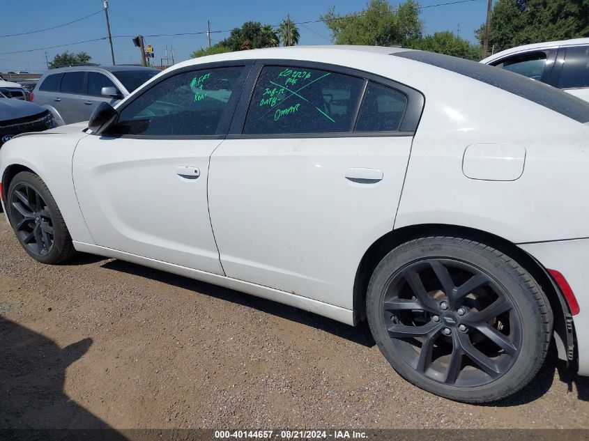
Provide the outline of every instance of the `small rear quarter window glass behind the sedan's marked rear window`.
{"type": "Polygon", "coordinates": [[[366,88],[355,132],[395,132],[407,107],[407,97],[395,89],[370,82],[366,88]]]}

